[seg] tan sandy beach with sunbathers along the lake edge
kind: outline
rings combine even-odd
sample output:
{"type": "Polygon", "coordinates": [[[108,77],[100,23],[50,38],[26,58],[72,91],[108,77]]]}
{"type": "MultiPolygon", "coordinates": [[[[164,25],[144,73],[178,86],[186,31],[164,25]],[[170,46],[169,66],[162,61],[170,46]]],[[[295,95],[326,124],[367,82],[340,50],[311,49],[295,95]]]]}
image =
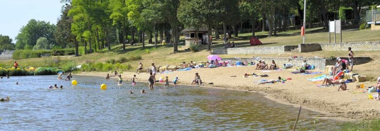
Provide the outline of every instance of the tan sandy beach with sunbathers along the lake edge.
{"type": "MultiPolygon", "coordinates": [[[[360,66],[356,66],[359,68],[360,66]]],[[[316,84],[307,81],[321,74],[292,74],[293,69],[270,70],[264,72],[255,70],[255,66],[235,66],[235,67],[219,67],[219,68],[197,68],[188,71],[174,71],[165,74],[157,74],[159,77],[168,76],[172,81],[175,77],[179,78],[178,84],[189,85],[194,79],[195,73],[199,73],[206,87],[237,89],[242,91],[254,91],[264,93],[267,98],[274,101],[292,104],[294,106],[302,105],[304,108],[327,114],[335,119],[371,119],[380,116],[380,101],[368,99],[368,95],[377,93],[352,93],[364,89],[356,89],[356,85],[364,84],[366,87],[375,85],[375,82],[353,82],[347,83],[347,90],[337,91],[338,86],[317,87],[316,84]],[[255,78],[249,76],[244,78],[244,74],[267,74],[269,77],[255,78]],[[232,77],[231,77],[232,76],[232,77]],[[236,76],[236,77],[234,77],[236,76]],[[285,83],[274,84],[258,84],[261,79],[277,79],[291,78],[292,80],[285,83]],[[213,84],[209,84],[213,83],[213,84]]],[[[312,70],[314,72],[322,70],[312,70]]],[[[111,72],[81,72],[76,75],[84,76],[101,76],[106,77],[107,73],[111,72]]],[[[124,80],[131,80],[134,72],[123,72],[124,80]]],[[[149,74],[140,73],[136,77],[141,82],[148,82],[149,74]]],[[[172,86],[172,84],[171,84],[172,86]]]]}

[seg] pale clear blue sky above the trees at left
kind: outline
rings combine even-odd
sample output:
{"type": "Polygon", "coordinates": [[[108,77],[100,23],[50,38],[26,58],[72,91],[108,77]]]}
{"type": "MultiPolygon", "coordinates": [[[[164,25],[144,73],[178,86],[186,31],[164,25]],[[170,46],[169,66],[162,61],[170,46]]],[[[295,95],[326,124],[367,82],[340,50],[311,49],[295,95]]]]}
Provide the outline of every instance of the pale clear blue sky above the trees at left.
{"type": "Polygon", "coordinates": [[[0,34],[15,37],[30,19],[57,24],[61,14],[60,0],[0,0],[0,34]]]}

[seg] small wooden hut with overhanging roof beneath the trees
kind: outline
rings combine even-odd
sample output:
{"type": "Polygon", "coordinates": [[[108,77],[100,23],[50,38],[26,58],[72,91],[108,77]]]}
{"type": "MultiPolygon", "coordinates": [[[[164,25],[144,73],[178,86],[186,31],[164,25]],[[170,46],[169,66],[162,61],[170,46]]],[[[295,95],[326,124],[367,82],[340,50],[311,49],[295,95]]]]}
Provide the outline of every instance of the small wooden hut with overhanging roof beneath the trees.
{"type": "MultiPolygon", "coordinates": [[[[211,29],[211,34],[215,32],[214,29],[211,29]]],[[[185,46],[190,46],[190,44],[195,43],[195,35],[196,31],[195,28],[186,28],[182,30],[181,33],[184,33],[185,35],[185,46]]],[[[208,36],[208,31],[207,28],[200,28],[198,30],[198,44],[201,45],[207,45],[207,36],[208,36]]]]}

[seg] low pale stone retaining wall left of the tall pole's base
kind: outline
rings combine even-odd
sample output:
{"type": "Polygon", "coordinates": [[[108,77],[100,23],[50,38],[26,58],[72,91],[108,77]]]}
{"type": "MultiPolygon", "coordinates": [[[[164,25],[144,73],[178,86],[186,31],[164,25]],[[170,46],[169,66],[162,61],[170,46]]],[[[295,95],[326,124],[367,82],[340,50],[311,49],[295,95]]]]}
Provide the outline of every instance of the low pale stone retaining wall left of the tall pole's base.
{"type": "Polygon", "coordinates": [[[282,54],[297,49],[298,46],[245,47],[212,49],[212,54],[282,54]]]}

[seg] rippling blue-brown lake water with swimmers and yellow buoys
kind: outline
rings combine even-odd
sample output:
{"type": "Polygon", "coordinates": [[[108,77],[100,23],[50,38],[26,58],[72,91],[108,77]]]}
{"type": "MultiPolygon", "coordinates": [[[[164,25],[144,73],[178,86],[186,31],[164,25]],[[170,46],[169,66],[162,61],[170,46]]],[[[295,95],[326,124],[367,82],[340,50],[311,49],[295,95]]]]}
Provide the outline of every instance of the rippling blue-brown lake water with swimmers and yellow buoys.
{"type": "MultiPolygon", "coordinates": [[[[115,83],[104,78],[73,76],[79,83],[115,83]]],[[[57,76],[0,79],[0,131],[14,130],[291,130],[298,108],[259,93],[204,87],[145,89],[147,85],[76,85],[57,76]],[[19,85],[15,83],[19,82],[19,85]],[[55,83],[64,89],[48,89],[55,83]],[[129,94],[132,90],[135,94],[129,94]]],[[[340,122],[316,118],[302,110],[301,125],[333,130],[340,122]],[[314,124],[314,121],[317,122],[314,124]]],[[[321,115],[323,116],[323,115],[321,115]]]]}

